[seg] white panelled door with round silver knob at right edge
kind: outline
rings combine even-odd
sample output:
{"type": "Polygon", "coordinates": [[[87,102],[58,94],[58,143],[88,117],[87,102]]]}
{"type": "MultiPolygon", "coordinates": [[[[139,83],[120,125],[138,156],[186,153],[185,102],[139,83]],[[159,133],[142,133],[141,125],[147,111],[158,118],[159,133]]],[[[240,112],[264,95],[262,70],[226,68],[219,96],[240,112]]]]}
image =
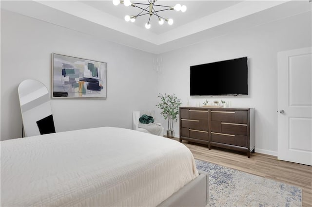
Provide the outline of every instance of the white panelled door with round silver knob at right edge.
{"type": "Polygon", "coordinates": [[[278,52],[278,159],[312,165],[312,48],[278,52]]]}

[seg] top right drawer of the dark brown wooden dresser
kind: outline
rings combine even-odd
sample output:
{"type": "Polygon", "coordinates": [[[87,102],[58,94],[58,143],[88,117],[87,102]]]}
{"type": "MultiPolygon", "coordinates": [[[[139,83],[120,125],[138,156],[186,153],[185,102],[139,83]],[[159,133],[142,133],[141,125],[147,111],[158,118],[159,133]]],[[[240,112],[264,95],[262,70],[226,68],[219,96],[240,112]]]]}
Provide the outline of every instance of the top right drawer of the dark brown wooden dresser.
{"type": "Polygon", "coordinates": [[[224,121],[247,124],[247,111],[211,111],[212,121],[224,121]]]}

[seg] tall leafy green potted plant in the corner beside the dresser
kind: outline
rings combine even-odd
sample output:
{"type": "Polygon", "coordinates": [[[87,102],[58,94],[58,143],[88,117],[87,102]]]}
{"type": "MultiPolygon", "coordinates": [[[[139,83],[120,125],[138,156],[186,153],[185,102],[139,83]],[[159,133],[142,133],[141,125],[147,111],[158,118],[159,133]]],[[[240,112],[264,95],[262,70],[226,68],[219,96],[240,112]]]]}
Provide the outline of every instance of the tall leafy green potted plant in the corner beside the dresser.
{"type": "Polygon", "coordinates": [[[161,116],[165,120],[168,120],[168,130],[167,137],[174,137],[174,121],[177,121],[177,115],[179,114],[179,106],[182,104],[181,100],[178,99],[175,94],[170,95],[166,94],[158,94],[157,98],[160,98],[160,103],[156,104],[156,106],[161,110],[161,116]]]}

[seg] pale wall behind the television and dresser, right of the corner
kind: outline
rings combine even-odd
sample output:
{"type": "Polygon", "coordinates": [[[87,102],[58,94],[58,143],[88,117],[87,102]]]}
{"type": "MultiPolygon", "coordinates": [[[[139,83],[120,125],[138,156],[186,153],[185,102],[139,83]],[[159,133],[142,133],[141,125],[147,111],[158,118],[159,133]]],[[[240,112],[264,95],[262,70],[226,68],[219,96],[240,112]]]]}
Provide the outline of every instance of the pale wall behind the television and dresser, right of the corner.
{"type": "MultiPolygon", "coordinates": [[[[248,96],[191,97],[190,104],[223,99],[231,101],[233,107],[255,107],[255,150],[277,155],[277,52],[311,47],[311,19],[308,12],[160,54],[158,92],[176,93],[186,105],[190,98],[190,66],[248,56],[248,96]]],[[[210,78],[207,87],[213,87],[210,78]]],[[[176,123],[176,136],[178,127],[176,123]]]]}

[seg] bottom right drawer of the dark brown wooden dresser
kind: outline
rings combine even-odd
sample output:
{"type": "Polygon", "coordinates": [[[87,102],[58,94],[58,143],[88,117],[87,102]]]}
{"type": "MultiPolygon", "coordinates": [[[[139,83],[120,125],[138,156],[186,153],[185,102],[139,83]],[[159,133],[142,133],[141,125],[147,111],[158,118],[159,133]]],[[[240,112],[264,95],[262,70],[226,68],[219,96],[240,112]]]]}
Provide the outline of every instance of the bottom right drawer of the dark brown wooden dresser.
{"type": "Polygon", "coordinates": [[[212,132],[211,141],[240,147],[247,147],[247,136],[243,135],[231,135],[212,132]]]}

